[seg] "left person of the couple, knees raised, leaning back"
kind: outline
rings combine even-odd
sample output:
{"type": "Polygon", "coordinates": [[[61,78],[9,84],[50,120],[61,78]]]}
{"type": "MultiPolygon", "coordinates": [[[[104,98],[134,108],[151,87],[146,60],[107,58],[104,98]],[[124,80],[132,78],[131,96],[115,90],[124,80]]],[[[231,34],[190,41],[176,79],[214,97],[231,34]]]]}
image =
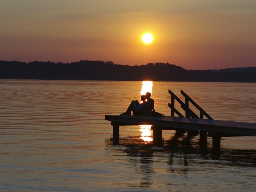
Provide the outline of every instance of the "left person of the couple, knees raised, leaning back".
{"type": "Polygon", "coordinates": [[[134,115],[142,116],[142,112],[143,112],[143,107],[145,105],[146,96],[145,95],[141,95],[141,100],[142,100],[141,104],[138,102],[138,100],[135,100],[135,101],[132,100],[132,102],[129,105],[128,109],[124,113],[121,113],[120,115],[127,116],[127,115],[131,115],[131,113],[133,112],[134,115]]]}

